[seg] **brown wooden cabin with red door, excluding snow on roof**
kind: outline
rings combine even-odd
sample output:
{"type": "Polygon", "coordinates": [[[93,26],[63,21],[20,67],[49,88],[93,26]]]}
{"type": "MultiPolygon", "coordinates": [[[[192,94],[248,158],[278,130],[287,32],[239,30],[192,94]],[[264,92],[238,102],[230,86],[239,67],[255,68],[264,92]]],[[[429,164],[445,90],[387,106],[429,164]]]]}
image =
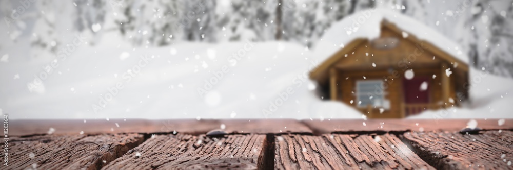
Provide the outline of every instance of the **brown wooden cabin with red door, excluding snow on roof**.
{"type": "Polygon", "coordinates": [[[467,63],[415,35],[404,36],[387,20],[380,29],[379,38],[354,39],[310,72],[329,99],[369,118],[403,118],[468,98],[467,63]]]}

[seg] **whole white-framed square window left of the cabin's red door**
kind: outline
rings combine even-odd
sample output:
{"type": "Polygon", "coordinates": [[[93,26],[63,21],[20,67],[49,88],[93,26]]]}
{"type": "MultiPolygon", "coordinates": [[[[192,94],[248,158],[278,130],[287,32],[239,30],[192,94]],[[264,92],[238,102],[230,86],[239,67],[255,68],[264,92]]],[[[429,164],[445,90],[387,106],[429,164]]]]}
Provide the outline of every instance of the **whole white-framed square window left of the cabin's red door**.
{"type": "Polygon", "coordinates": [[[376,106],[383,107],[385,104],[383,81],[381,80],[360,80],[356,82],[358,107],[376,106]]]}

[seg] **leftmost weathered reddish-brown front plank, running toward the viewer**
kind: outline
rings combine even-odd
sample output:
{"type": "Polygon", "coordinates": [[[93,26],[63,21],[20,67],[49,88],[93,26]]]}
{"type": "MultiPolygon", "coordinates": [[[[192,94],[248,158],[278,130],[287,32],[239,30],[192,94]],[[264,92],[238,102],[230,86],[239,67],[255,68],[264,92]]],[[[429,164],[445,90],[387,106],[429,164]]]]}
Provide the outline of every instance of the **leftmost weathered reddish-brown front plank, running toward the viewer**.
{"type": "Polygon", "coordinates": [[[143,141],[139,134],[12,137],[7,169],[98,169],[143,141]]]}

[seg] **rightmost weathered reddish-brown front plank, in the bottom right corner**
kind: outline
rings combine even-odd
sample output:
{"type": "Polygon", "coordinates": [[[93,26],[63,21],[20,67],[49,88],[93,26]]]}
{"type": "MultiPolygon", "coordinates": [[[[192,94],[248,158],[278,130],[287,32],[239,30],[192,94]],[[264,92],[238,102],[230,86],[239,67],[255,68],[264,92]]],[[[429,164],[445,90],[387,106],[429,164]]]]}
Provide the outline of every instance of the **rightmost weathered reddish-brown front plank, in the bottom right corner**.
{"type": "Polygon", "coordinates": [[[405,133],[415,152],[438,169],[513,169],[513,132],[405,133]]]}

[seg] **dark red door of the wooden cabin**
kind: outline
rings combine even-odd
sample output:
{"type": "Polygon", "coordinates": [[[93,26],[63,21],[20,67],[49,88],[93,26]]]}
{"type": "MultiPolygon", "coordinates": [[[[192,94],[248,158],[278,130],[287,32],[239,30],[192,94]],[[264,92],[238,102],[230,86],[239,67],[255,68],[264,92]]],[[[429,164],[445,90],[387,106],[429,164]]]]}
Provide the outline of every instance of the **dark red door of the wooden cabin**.
{"type": "Polygon", "coordinates": [[[429,103],[429,79],[427,77],[404,79],[403,88],[406,116],[420,113],[426,109],[415,104],[429,103]]]}

